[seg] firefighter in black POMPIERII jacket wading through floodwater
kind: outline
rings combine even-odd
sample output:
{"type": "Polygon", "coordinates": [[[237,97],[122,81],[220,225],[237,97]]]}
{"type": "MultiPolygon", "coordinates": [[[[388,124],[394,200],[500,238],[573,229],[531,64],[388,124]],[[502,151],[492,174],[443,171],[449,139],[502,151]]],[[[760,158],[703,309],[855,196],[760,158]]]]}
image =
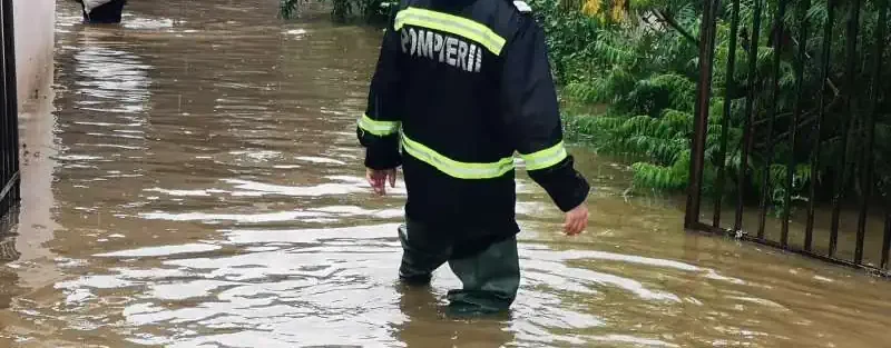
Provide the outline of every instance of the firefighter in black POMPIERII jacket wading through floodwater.
{"type": "Polygon", "coordinates": [[[517,296],[513,153],[566,212],[588,223],[587,180],[562,141],[545,36],[510,0],[402,0],[390,16],[356,133],[366,177],[408,190],[400,279],[427,285],[449,264],[457,314],[501,312],[517,296]]]}

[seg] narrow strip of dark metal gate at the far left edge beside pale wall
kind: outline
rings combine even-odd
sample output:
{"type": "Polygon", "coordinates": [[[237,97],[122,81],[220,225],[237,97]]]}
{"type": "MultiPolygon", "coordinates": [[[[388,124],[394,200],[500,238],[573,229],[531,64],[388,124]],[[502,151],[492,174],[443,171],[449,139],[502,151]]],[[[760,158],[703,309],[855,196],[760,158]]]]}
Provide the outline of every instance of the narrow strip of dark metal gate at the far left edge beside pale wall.
{"type": "Polygon", "coordinates": [[[6,215],[20,199],[19,122],[16,92],[16,43],[12,0],[0,0],[2,44],[0,44],[0,215],[6,215]]]}

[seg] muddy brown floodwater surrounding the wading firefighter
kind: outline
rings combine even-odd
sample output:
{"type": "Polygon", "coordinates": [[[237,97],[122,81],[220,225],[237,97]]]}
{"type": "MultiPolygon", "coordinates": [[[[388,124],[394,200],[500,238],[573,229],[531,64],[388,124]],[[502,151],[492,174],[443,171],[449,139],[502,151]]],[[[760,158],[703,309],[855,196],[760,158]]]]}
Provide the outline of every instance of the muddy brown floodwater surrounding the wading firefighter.
{"type": "MultiPolygon", "coordinates": [[[[523,282],[506,317],[440,315],[458,280],[395,281],[404,190],[373,197],[353,131],[380,31],[274,0],[59,1],[52,95],[23,118],[2,347],[889,347],[891,282],[685,233],[572,149],[591,227],[559,233],[518,177],[523,282]]],[[[49,88],[49,87],[48,87],[49,88]]]]}

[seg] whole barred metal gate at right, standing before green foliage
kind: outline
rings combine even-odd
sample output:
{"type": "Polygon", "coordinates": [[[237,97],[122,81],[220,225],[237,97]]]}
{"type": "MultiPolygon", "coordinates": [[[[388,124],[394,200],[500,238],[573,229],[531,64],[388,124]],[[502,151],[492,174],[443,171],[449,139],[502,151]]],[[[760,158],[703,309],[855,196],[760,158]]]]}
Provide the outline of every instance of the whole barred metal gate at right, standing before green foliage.
{"type": "Polygon", "coordinates": [[[703,4],[686,228],[891,276],[889,0],[731,1],[703,4]]]}

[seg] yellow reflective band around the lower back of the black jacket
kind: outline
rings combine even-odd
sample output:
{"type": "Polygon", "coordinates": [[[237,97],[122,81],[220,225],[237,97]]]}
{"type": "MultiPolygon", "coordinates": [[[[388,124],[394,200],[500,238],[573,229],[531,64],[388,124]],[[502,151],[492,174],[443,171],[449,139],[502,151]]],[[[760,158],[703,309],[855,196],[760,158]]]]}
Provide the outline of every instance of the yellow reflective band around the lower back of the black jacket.
{"type": "Polygon", "coordinates": [[[412,157],[458,179],[492,179],[501,177],[513,169],[513,157],[502,158],[492,163],[459,162],[409,139],[405,133],[402,133],[402,148],[412,157]]]}

